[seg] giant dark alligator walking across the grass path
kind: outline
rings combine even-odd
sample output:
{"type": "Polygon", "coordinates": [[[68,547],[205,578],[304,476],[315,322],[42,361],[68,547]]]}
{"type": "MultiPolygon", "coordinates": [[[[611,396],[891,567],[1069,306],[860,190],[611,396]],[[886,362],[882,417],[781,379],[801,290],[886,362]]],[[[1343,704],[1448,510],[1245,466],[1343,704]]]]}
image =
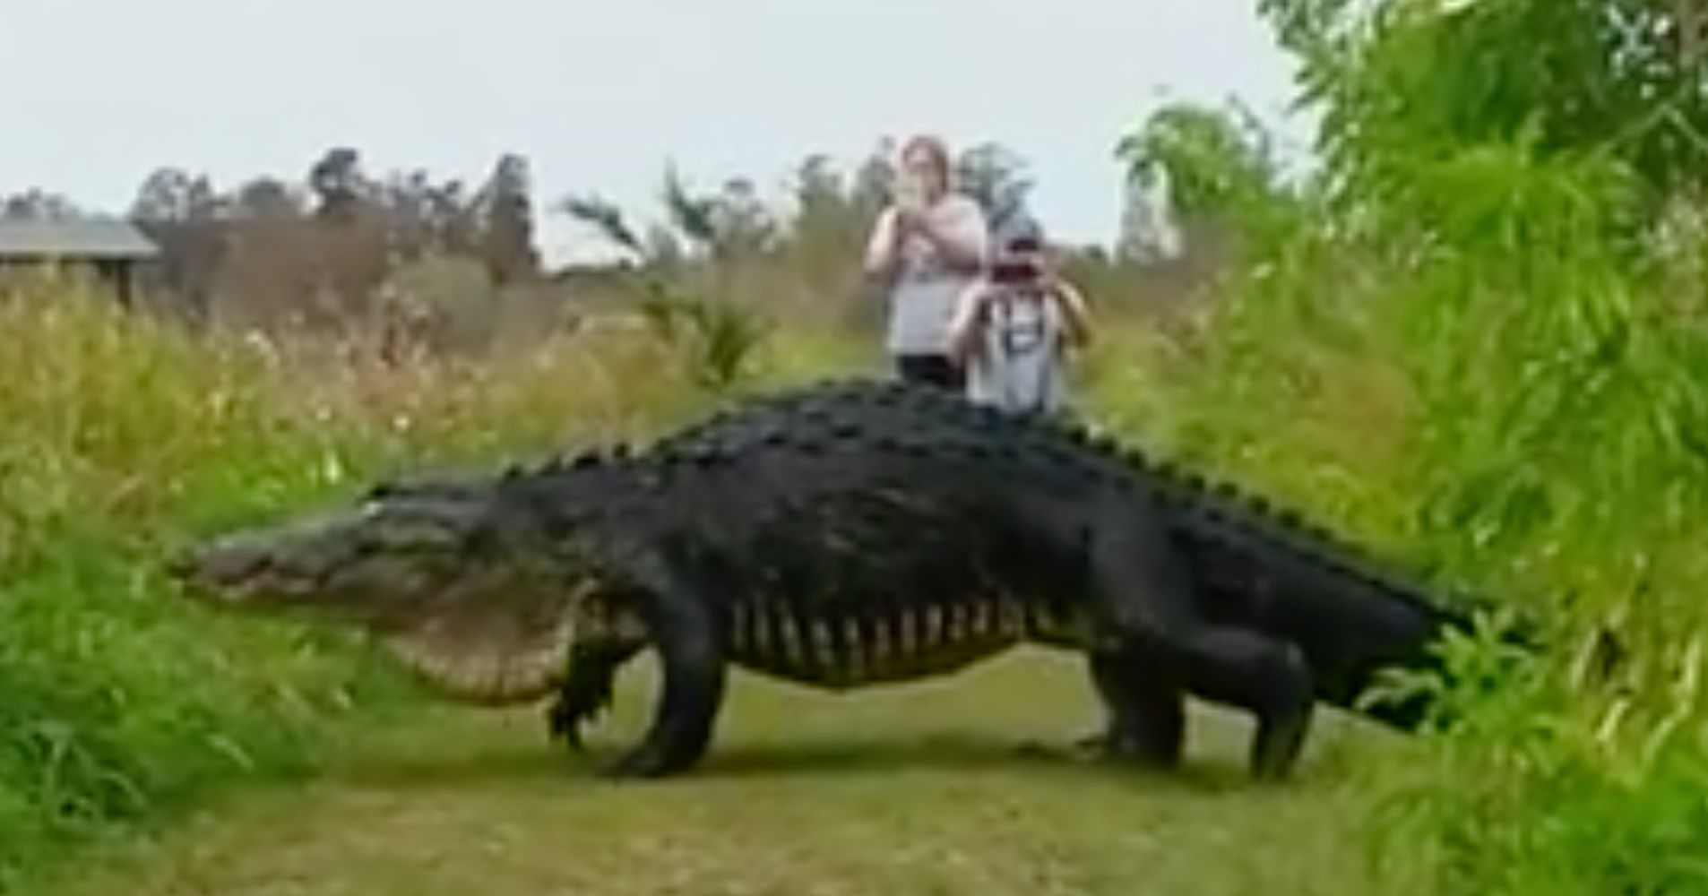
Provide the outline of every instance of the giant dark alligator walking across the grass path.
{"type": "MultiPolygon", "coordinates": [[[[173,568],[203,601],[360,625],[458,700],[555,691],[570,739],[651,645],[658,707],[606,768],[625,777],[700,759],[728,662],[844,689],[1033,642],[1088,657],[1103,749],[1177,761],[1194,695],[1255,717],[1250,771],[1276,778],[1315,701],[1351,707],[1467,625],[1296,517],[1079,425],[861,379],[640,451],[381,483],[173,568]]],[[[1421,705],[1365,712],[1411,725],[1421,705]]]]}

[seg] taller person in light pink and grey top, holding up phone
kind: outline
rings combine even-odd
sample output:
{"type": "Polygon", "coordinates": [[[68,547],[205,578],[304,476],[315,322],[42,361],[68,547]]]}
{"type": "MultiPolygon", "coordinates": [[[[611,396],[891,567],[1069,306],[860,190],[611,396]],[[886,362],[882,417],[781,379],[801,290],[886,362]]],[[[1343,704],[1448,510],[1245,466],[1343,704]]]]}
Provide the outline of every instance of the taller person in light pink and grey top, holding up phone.
{"type": "Polygon", "coordinates": [[[953,189],[950,152],[936,137],[902,147],[895,201],[866,244],[866,273],[890,302],[885,348],[909,382],[963,387],[950,357],[948,323],[956,297],[979,278],[989,246],[984,210],[953,189]]]}

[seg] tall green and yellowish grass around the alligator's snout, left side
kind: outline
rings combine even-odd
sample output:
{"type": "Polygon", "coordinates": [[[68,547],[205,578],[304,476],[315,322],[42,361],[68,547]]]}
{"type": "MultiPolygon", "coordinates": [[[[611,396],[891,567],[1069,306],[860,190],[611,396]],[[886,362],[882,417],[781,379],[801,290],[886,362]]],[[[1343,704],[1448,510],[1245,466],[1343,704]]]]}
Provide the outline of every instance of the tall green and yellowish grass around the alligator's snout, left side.
{"type": "MultiPolygon", "coordinates": [[[[705,401],[644,329],[482,364],[191,336],[44,280],[0,300],[0,886],[412,693],[343,637],[198,611],[162,556],[403,468],[642,435],[705,401]]],[[[758,375],[811,358],[753,348],[758,375]]]]}

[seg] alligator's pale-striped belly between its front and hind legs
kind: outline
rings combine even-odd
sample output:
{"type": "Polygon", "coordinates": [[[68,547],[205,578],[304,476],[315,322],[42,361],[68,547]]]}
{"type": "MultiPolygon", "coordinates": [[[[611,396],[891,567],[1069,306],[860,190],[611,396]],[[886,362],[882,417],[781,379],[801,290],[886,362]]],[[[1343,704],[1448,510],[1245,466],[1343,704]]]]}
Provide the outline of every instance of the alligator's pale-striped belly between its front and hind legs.
{"type": "Polygon", "coordinates": [[[781,602],[743,601],[729,621],[729,659],[738,666],[828,689],[946,676],[1021,642],[1071,640],[1059,620],[997,599],[813,618],[781,602]]]}

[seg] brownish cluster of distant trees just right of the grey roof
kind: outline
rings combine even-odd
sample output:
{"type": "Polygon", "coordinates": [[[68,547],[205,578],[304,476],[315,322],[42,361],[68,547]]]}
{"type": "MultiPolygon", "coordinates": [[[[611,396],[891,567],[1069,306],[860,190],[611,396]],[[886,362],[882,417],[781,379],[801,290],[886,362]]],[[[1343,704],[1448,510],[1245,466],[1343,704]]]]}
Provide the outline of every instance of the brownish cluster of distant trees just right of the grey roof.
{"type": "MultiPolygon", "coordinates": [[[[335,147],[301,181],[261,176],[229,189],[162,167],[125,217],[161,246],[159,287],[193,309],[241,295],[313,323],[362,311],[388,275],[425,256],[478,259],[499,285],[538,276],[529,191],[514,154],[470,189],[425,171],[372,177],[359,150],[335,147]]],[[[0,198],[9,218],[84,213],[43,189],[0,198]]]]}

